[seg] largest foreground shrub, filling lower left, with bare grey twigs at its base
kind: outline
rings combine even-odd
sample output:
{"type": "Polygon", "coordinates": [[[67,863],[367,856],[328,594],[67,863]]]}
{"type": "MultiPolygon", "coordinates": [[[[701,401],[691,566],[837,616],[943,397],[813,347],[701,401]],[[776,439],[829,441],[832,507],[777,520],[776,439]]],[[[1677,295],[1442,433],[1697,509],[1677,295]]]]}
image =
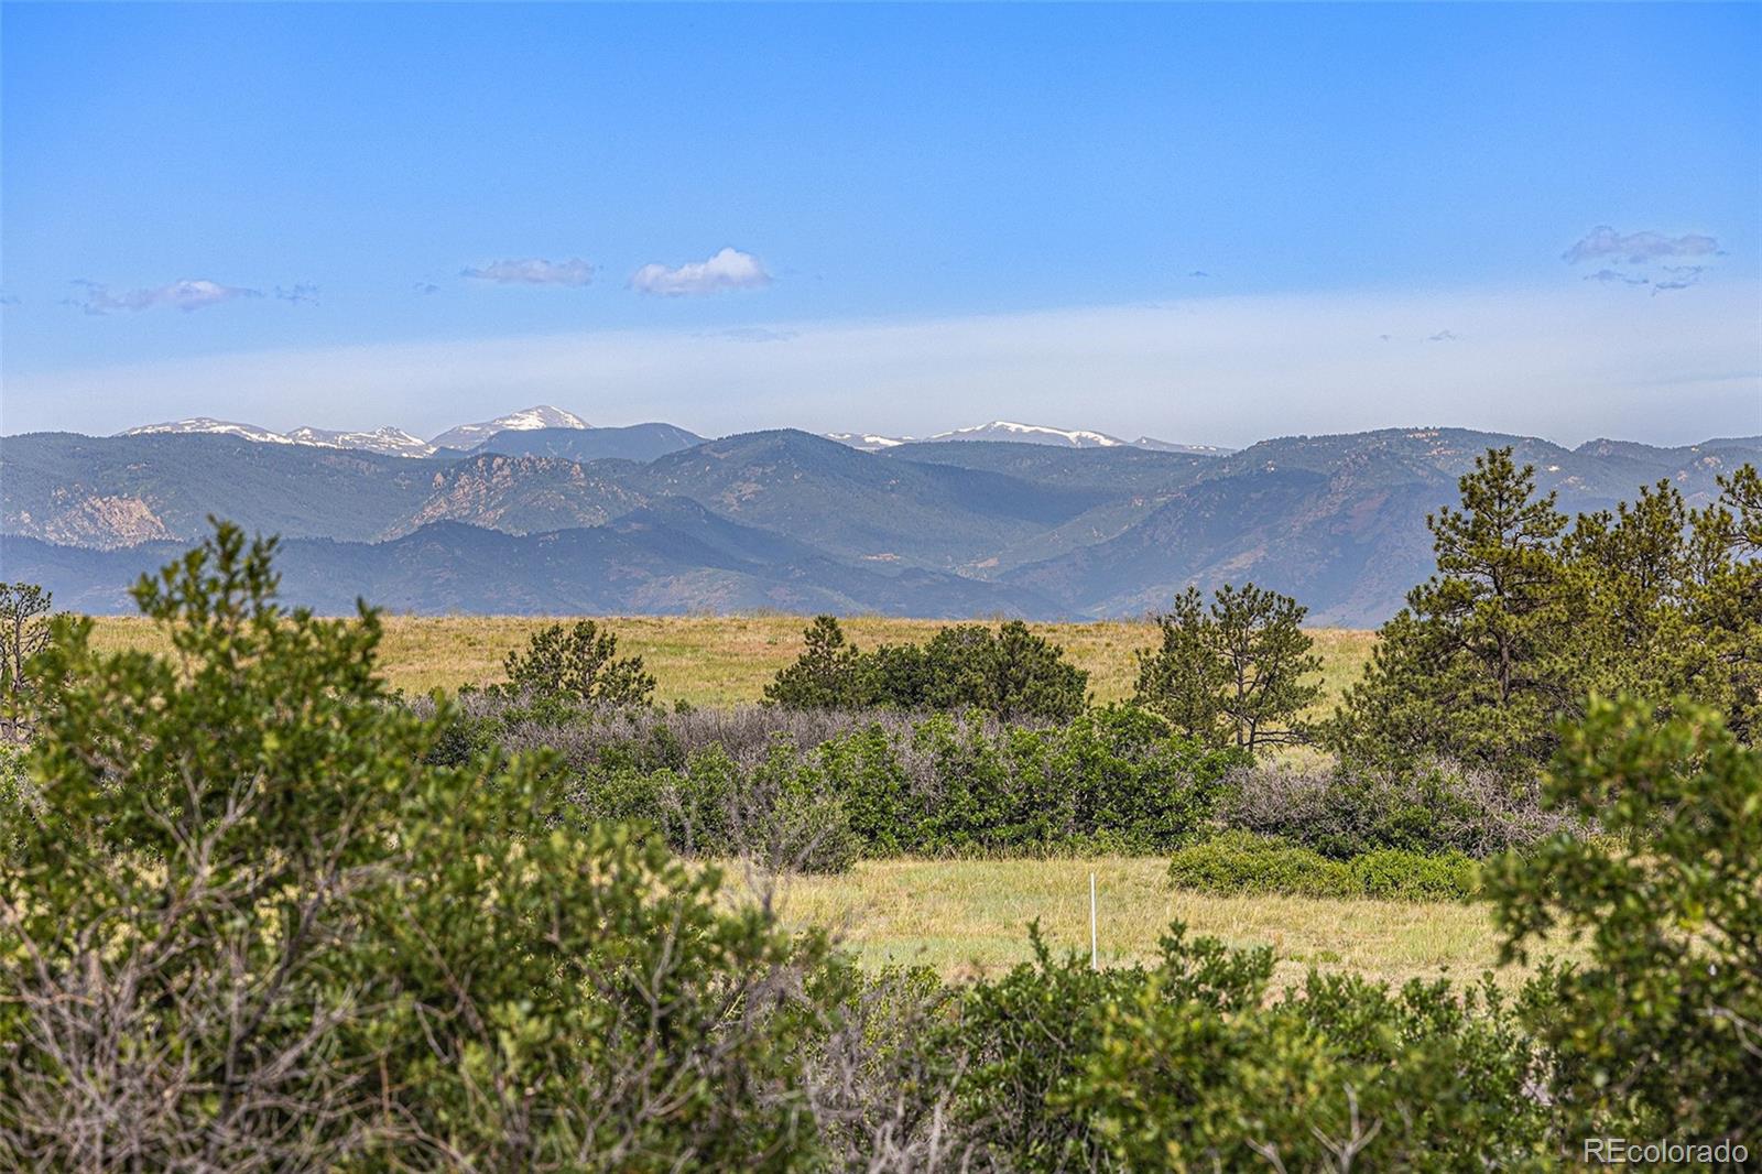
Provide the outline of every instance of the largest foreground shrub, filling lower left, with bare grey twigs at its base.
{"type": "Polygon", "coordinates": [[[544,758],[423,765],[379,622],[273,603],[229,525],[62,620],[0,869],[7,1169],[805,1165],[818,938],[571,828],[544,758]]]}

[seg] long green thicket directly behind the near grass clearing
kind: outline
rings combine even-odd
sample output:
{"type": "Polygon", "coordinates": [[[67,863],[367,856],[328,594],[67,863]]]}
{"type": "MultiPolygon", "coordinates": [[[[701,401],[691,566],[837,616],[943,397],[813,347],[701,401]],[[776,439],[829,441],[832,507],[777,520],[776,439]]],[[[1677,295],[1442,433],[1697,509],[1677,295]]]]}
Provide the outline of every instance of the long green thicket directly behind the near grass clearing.
{"type": "Polygon", "coordinates": [[[640,818],[678,851],[812,858],[819,871],[856,855],[1166,851],[1203,827],[1240,762],[1136,709],[1038,728],[876,721],[809,749],[775,740],[745,762],[710,744],[680,769],[633,758],[622,744],[583,769],[571,791],[583,818],[640,818]]]}

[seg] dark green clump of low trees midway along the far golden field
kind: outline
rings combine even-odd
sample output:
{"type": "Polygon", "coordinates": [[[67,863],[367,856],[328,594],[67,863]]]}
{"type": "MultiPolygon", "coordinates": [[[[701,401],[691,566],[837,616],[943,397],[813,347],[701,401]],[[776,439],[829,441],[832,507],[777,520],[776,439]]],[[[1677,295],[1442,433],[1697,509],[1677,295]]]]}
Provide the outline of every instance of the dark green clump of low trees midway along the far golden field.
{"type": "Polygon", "coordinates": [[[807,649],[765,687],[784,709],[980,709],[1004,719],[1068,721],[1089,703],[1089,673],[1064,649],[1010,620],[943,628],[927,643],[881,645],[863,654],[832,615],[803,633],[807,649]]]}

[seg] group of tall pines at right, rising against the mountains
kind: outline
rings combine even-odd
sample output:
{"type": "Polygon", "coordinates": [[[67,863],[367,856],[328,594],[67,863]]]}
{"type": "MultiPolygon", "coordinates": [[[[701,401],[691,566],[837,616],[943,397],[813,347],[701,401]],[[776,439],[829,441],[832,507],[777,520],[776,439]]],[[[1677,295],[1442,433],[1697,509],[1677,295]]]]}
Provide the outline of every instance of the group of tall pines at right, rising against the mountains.
{"type": "Polygon", "coordinates": [[[1327,728],[1346,758],[1438,756],[1536,770],[1561,719],[1625,693],[1669,716],[1718,709],[1741,740],[1762,719],[1762,479],[1744,465],[1692,509],[1669,481],[1572,529],[1533,467],[1489,450],[1461,508],[1427,518],[1438,575],[1383,626],[1327,728]]]}

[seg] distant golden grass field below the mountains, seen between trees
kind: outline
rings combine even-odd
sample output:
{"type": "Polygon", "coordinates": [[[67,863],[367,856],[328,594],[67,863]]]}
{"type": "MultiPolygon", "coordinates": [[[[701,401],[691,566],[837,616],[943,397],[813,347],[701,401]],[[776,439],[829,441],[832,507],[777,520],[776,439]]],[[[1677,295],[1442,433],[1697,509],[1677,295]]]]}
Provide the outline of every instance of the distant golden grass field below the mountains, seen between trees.
{"type": "MultiPolygon", "coordinates": [[[[382,666],[393,686],[409,693],[462,684],[486,684],[502,675],[502,658],[522,647],[548,619],[527,617],[386,617],[382,666]]],[[[802,650],[800,615],[641,615],[606,620],[618,635],[618,650],[636,652],[655,675],[657,695],[692,705],[756,702],[779,668],[802,650]]],[[[99,619],[97,640],[104,647],[166,649],[160,635],[139,619],[99,619]]],[[[846,635],[860,647],[929,640],[941,620],[851,619],[846,635]]],[[[1070,659],[1089,670],[1089,686],[1099,702],[1117,702],[1136,680],[1133,652],[1156,643],[1154,624],[1107,620],[1092,624],[1034,624],[1036,631],[1064,645],[1070,659]]],[[[1318,628],[1311,635],[1323,663],[1323,707],[1357,679],[1371,654],[1373,633],[1318,628]]]]}

